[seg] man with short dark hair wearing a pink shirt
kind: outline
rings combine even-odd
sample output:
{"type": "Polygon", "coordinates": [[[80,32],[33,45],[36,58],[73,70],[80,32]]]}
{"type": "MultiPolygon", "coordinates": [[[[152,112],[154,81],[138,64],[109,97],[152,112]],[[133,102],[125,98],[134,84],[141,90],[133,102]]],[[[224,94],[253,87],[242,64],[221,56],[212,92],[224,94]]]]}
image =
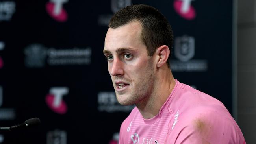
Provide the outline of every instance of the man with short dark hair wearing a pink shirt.
{"type": "Polygon", "coordinates": [[[224,105],[173,78],[173,33],[154,7],[133,5],[113,15],[105,38],[118,102],[136,107],[119,144],[245,144],[224,105]]]}

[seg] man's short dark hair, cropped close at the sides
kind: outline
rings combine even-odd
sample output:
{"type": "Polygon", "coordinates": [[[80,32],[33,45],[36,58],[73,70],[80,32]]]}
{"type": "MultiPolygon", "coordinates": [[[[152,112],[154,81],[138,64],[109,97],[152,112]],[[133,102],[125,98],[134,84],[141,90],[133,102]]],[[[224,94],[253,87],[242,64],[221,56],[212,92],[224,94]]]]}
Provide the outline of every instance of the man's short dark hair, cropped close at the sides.
{"type": "Polygon", "coordinates": [[[173,31],[168,20],[158,9],[145,4],[126,6],[113,15],[108,28],[119,28],[136,20],[141,23],[141,39],[147,46],[149,56],[152,56],[159,46],[167,45],[169,47],[170,55],[167,60],[169,67],[173,46],[173,31]]]}

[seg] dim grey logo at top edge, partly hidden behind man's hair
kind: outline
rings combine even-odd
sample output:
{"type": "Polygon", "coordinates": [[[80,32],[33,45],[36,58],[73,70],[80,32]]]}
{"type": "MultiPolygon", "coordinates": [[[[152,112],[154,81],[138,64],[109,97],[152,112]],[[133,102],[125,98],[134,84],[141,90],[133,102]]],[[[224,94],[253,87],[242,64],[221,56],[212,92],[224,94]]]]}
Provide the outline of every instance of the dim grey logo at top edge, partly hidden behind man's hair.
{"type": "MultiPolygon", "coordinates": [[[[119,11],[126,6],[130,6],[132,4],[131,0],[111,0],[111,10],[113,13],[119,11]]],[[[99,26],[108,26],[108,23],[113,14],[102,14],[98,15],[98,25],[99,26]]]]}

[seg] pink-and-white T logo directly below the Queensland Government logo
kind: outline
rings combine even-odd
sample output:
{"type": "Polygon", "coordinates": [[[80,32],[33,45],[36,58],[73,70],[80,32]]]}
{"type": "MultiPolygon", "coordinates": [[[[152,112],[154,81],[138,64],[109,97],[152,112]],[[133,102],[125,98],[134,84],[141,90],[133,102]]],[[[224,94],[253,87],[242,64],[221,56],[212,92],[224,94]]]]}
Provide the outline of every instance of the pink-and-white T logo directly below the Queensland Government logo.
{"type": "Polygon", "coordinates": [[[67,87],[52,87],[50,94],[46,95],[46,104],[52,111],[58,114],[67,113],[67,104],[63,100],[63,96],[69,93],[67,87]]]}

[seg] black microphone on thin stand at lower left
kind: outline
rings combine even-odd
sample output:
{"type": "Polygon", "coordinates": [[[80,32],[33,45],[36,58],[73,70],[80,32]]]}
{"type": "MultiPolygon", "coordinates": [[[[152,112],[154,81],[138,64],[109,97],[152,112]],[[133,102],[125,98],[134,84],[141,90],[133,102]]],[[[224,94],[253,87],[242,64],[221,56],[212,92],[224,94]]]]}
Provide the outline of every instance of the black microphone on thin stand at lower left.
{"type": "Polygon", "coordinates": [[[20,128],[20,127],[32,127],[32,126],[37,126],[39,125],[41,122],[40,122],[40,119],[39,118],[30,118],[28,120],[26,120],[24,123],[22,124],[18,124],[18,125],[15,125],[15,126],[11,126],[11,127],[0,127],[0,130],[13,130],[13,129],[17,129],[17,128],[20,128]]]}

